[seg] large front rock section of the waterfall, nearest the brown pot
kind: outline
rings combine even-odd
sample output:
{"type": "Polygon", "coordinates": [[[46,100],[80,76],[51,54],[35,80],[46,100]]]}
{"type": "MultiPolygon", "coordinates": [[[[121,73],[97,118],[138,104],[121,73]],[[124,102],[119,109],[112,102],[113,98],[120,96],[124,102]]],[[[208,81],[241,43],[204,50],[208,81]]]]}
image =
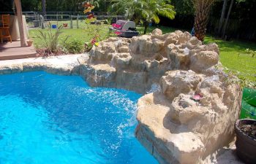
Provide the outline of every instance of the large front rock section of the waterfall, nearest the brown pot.
{"type": "Polygon", "coordinates": [[[135,135],[159,163],[208,163],[206,157],[233,140],[241,87],[223,76],[167,71],[162,90],[140,98],[135,135]]]}

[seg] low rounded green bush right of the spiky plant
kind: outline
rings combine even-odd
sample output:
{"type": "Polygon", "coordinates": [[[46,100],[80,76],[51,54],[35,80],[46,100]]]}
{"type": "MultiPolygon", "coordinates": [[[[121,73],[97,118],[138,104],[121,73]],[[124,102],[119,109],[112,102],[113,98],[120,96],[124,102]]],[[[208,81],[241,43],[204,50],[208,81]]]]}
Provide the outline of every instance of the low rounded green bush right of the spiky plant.
{"type": "Polygon", "coordinates": [[[84,43],[78,39],[71,39],[64,43],[64,49],[67,53],[84,52],[84,43]]]}

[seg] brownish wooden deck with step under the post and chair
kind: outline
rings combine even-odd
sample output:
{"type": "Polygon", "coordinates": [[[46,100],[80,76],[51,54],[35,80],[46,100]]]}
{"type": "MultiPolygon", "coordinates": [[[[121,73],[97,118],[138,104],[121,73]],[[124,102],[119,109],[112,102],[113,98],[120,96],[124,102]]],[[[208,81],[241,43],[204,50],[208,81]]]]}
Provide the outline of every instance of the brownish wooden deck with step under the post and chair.
{"type": "Polygon", "coordinates": [[[0,44],[0,60],[35,58],[37,52],[33,46],[20,47],[20,41],[0,44]]]}

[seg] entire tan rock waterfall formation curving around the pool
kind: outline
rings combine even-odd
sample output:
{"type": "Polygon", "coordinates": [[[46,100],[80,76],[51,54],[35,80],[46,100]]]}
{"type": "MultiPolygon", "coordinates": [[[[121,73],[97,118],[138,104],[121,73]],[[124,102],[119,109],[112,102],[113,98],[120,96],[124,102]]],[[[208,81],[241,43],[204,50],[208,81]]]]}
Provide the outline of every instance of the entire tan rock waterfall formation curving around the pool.
{"type": "Polygon", "coordinates": [[[138,102],[135,136],[159,163],[186,164],[206,163],[233,140],[241,88],[221,67],[217,44],[204,45],[187,32],[156,29],[100,42],[80,74],[92,86],[148,93],[138,102]],[[152,86],[160,88],[148,92],[152,86]],[[199,100],[193,99],[198,95],[199,100]]]}

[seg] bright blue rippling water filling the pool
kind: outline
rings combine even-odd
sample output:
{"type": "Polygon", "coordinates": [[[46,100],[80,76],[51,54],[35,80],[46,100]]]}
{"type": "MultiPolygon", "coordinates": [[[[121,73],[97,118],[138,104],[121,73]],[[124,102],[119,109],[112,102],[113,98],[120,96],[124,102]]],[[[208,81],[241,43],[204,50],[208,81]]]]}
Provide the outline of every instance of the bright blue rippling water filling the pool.
{"type": "Polygon", "coordinates": [[[137,93],[43,71],[0,76],[0,164],[154,164],[134,136],[137,93]]]}

